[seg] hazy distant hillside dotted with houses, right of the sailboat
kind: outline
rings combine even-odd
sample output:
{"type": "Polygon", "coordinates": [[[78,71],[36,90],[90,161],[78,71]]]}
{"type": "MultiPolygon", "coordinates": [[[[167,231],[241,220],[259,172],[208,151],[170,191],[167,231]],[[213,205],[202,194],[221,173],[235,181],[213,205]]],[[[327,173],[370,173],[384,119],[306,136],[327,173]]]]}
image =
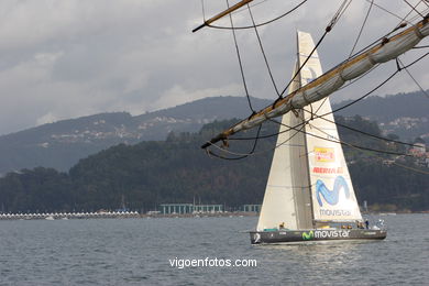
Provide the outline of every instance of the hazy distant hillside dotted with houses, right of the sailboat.
{"type": "MultiPolygon", "coordinates": [[[[342,101],[333,108],[350,102],[351,100],[342,101]]],[[[344,117],[360,114],[377,121],[385,134],[394,133],[408,141],[421,136],[429,142],[429,98],[420,91],[369,97],[341,110],[338,114],[344,117]]]]}

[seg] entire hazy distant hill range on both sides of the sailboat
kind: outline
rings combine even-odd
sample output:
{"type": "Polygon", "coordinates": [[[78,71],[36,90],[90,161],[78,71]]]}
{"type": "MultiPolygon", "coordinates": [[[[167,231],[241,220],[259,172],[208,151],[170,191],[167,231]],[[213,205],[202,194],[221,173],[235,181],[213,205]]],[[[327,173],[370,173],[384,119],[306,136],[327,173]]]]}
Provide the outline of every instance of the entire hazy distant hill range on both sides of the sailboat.
{"type": "MultiPolygon", "coordinates": [[[[255,109],[271,102],[252,99],[255,109]]],[[[378,121],[386,134],[395,133],[408,141],[421,136],[429,142],[428,110],[429,99],[421,92],[411,92],[370,97],[340,114],[361,114],[378,121]]],[[[205,123],[249,114],[243,97],[212,97],[136,117],[127,112],[101,113],[44,124],[0,136],[0,174],[36,166],[67,170],[80,158],[120,143],[165,140],[170,131],[196,132],[205,123]]]]}

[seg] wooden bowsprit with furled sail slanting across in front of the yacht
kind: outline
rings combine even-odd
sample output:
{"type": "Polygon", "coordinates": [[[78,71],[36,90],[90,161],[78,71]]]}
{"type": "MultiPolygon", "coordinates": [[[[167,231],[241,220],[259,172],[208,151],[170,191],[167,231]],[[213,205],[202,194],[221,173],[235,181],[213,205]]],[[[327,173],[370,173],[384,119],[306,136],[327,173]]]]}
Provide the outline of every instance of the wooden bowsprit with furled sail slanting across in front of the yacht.
{"type": "Polygon", "coordinates": [[[255,114],[252,114],[250,118],[242,120],[211,139],[210,142],[207,142],[201,147],[206,148],[221,140],[227,140],[237,132],[252,129],[268,119],[283,116],[294,109],[301,109],[312,102],[323,99],[338,90],[346,80],[351,80],[363,75],[376,64],[386,63],[391,59],[397,58],[399,55],[416,46],[428,35],[429,15],[426,15],[425,19],[417,24],[394,36],[385,37],[378,45],[362,52],[350,61],[346,61],[330,72],[319,76],[308,85],[290,92],[272,106],[268,106],[255,114]]]}

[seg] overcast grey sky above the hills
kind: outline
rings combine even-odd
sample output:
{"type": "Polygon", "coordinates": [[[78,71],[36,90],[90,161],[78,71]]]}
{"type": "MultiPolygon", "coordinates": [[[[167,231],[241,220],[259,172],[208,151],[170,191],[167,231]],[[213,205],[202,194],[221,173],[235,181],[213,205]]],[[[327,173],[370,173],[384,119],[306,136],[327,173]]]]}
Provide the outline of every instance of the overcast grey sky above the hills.
{"type": "MultiPolygon", "coordinates": [[[[230,0],[231,3],[238,0],[230,0]]],[[[255,0],[256,23],[271,20],[300,0],[255,0]]],[[[295,33],[317,41],[342,0],[308,0],[297,11],[258,29],[277,86],[290,79],[295,33]]],[[[371,1],[354,0],[318,48],[324,70],[352,51],[371,1]]],[[[419,1],[408,0],[415,4],[419,1]]],[[[215,96],[245,95],[231,31],[191,30],[226,8],[220,0],[2,0],[0,1],[0,134],[101,112],[141,114],[215,96]]],[[[376,0],[398,16],[410,8],[403,0],[376,0]]],[[[418,6],[419,11],[427,4],[418,6]]],[[[427,11],[425,12],[427,13],[427,11]]],[[[233,14],[235,25],[250,23],[249,11],[233,14]]],[[[399,23],[373,7],[355,51],[399,23]]],[[[228,25],[229,19],[219,25],[228,25]]],[[[254,30],[238,31],[249,92],[275,99],[254,30]]],[[[427,45],[424,40],[421,45],[427,45]]],[[[414,50],[404,63],[426,53],[414,50]]],[[[409,72],[428,89],[425,58],[409,72]]],[[[358,98],[394,72],[387,63],[362,81],[331,96],[358,98]]],[[[400,73],[375,95],[418,90],[400,73]]]]}

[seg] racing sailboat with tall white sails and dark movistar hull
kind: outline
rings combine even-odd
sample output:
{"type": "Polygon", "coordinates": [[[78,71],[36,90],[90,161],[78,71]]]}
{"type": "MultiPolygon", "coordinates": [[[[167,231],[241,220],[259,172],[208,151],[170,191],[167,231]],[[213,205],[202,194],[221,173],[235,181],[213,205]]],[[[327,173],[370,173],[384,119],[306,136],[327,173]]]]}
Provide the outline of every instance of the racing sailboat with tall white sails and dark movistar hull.
{"type": "MultiPolygon", "coordinates": [[[[296,69],[315,48],[309,33],[297,32],[296,69]]],[[[293,79],[289,92],[322,74],[317,51],[293,79]]],[[[312,240],[382,240],[386,230],[363,228],[329,98],[282,118],[264,201],[251,243],[312,240]],[[311,110],[312,109],[312,110],[311,110]],[[316,118],[304,124],[314,114],[316,118]],[[304,125],[301,131],[287,127],[304,125]],[[327,141],[324,139],[333,139],[327,141]]]]}

